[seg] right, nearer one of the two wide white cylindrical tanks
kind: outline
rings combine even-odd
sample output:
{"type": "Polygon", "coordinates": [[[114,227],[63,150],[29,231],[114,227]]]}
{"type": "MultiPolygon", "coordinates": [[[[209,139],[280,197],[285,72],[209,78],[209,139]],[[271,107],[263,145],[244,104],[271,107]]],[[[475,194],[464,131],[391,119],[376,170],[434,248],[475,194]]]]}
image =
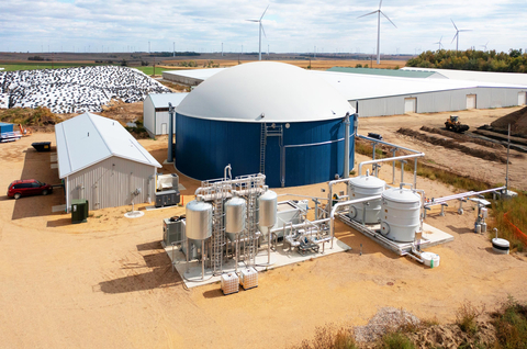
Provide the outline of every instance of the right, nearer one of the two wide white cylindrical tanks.
{"type": "Polygon", "coordinates": [[[411,243],[421,230],[421,196],[410,189],[385,190],[381,199],[381,234],[400,243],[411,243]]]}

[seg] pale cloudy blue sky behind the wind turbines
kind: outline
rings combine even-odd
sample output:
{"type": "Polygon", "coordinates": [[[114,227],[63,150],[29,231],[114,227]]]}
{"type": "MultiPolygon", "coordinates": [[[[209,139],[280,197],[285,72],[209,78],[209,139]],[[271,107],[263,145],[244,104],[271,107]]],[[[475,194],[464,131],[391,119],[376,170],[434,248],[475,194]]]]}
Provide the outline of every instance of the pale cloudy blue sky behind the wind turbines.
{"type": "MultiPolygon", "coordinates": [[[[9,0],[0,52],[377,53],[377,0],[9,0]],[[316,48],[315,48],[316,47],[316,48]]],[[[527,48],[525,0],[383,0],[381,53],[527,48]]]]}

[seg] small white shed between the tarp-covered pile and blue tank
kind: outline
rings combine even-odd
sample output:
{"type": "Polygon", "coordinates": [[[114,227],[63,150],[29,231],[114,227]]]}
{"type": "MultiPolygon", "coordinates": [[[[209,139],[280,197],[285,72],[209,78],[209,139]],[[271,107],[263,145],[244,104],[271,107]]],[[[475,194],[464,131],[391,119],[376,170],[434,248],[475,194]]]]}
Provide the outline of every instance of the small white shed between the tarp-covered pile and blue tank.
{"type": "Polygon", "coordinates": [[[143,102],[143,125],[150,137],[168,134],[168,103],[176,108],[189,93],[150,93],[143,102]]]}

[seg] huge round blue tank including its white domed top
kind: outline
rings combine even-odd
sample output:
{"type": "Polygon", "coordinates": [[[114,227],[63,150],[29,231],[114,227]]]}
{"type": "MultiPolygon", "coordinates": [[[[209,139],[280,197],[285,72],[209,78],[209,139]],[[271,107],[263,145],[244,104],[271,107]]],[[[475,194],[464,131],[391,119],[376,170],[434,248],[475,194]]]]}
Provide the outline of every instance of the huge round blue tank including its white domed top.
{"type": "MultiPolygon", "coordinates": [[[[328,181],[344,171],[348,101],[315,74],[259,61],[221,71],[176,108],[176,167],[194,179],[264,172],[269,187],[328,181]]],[[[349,164],[354,164],[354,120],[349,164]]]]}

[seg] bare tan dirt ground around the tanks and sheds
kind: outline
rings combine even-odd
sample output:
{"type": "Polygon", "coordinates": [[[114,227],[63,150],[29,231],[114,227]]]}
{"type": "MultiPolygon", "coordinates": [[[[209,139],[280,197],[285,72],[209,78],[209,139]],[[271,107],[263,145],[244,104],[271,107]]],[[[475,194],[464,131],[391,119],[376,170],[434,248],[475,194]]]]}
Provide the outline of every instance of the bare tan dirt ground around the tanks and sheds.
{"type": "MultiPolygon", "coordinates": [[[[472,126],[508,111],[459,114],[472,126]]],[[[388,140],[425,150],[437,164],[445,161],[460,170],[468,165],[471,170],[467,171],[498,180],[503,176],[497,173],[500,165],[428,148],[395,134],[403,124],[421,127],[426,121],[440,126],[444,116],[366,119],[360,120],[359,133],[381,133],[388,140]]],[[[42,140],[55,145],[53,133],[0,144],[1,188],[20,178],[58,183],[49,154],[31,147],[42,140]]],[[[164,161],[166,137],[141,143],[164,161]]],[[[357,161],[366,159],[357,156],[357,161]]],[[[523,180],[517,167],[512,166],[515,185],[523,180]]],[[[173,169],[165,166],[162,171],[173,169]]],[[[390,166],[381,169],[381,177],[391,182],[390,166]]],[[[411,181],[412,174],[406,172],[405,180],[411,181]]],[[[187,188],[183,200],[188,202],[199,183],[183,176],[180,181],[187,188]]],[[[276,191],[319,196],[322,188],[326,184],[276,191]]],[[[417,188],[427,196],[452,192],[421,178],[417,188]]],[[[351,251],[261,272],[257,289],[223,296],[217,283],[188,290],[171,272],[160,246],[161,219],[184,209],[148,211],[136,219],[123,216],[131,207],[99,210],[88,223],[71,225],[69,215],[51,213],[51,206],[60,203],[60,190],[19,201],[0,196],[3,348],[284,348],[311,337],[316,326],[326,323],[365,325],[384,306],[446,323],[466,300],[483,303],[487,309],[508,294],[527,301],[523,278],[527,259],[495,255],[486,236],[472,233],[475,213],[470,205],[464,215],[452,207],[445,217],[430,214],[426,219],[455,237],[452,243],[429,249],[440,255],[439,268],[400,258],[337,223],[337,237],[352,247],[351,251]]],[[[145,204],[139,207],[144,210],[145,204]]]]}

